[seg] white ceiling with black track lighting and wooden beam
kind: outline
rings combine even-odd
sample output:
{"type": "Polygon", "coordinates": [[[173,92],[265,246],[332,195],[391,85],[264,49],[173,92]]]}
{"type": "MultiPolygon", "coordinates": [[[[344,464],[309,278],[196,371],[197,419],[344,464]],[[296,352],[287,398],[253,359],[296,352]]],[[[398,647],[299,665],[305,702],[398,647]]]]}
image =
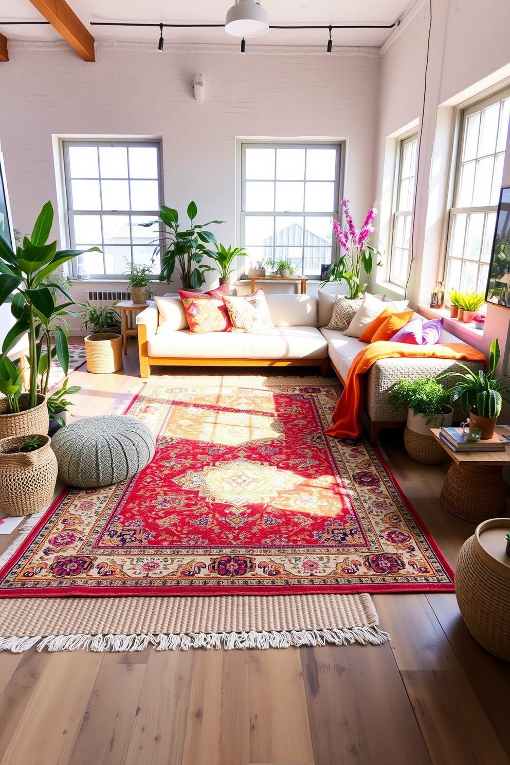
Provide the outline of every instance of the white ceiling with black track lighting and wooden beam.
{"type": "MultiPolygon", "coordinates": [[[[67,0],[76,15],[90,21],[138,21],[190,24],[223,24],[234,0],[67,0]]],[[[416,0],[261,0],[269,24],[393,24],[404,18],[416,0]]],[[[44,21],[29,0],[0,0],[0,31],[11,40],[58,40],[50,26],[11,26],[2,21],[44,21]]],[[[159,29],[140,27],[89,27],[96,39],[158,41],[159,29]]],[[[391,30],[333,30],[334,45],[380,47],[391,30]]],[[[270,30],[249,44],[322,45],[327,30],[270,30]]],[[[180,43],[235,43],[224,29],[164,29],[164,50],[180,43]]]]}

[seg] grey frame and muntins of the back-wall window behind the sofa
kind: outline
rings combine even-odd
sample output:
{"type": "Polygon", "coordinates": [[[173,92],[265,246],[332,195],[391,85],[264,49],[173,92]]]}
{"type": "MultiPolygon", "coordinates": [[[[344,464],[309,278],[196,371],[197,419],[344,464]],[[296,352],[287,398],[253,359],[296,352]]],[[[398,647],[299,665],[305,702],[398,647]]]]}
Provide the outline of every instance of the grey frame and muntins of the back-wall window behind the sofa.
{"type": "MultiPolygon", "coordinates": [[[[245,182],[246,182],[246,176],[245,176],[245,168],[246,168],[246,149],[247,148],[333,148],[336,150],[336,168],[335,168],[335,189],[333,194],[333,210],[330,210],[328,212],[324,211],[323,213],[308,213],[310,216],[323,216],[323,217],[329,217],[335,216],[336,218],[339,218],[340,216],[340,210],[339,210],[339,204],[341,200],[341,193],[343,192],[343,177],[344,177],[344,165],[345,165],[345,154],[346,154],[346,145],[344,141],[307,141],[307,142],[294,142],[291,140],[282,140],[282,141],[264,141],[264,140],[243,140],[240,144],[241,148],[241,176],[240,176],[240,197],[239,197],[239,223],[240,223],[240,232],[241,232],[241,246],[245,246],[245,219],[247,216],[261,216],[261,217],[274,217],[274,218],[281,218],[281,217],[289,217],[294,218],[296,216],[306,216],[307,213],[299,212],[299,211],[289,211],[289,212],[279,212],[277,210],[274,211],[261,211],[261,212],[247,212],[245,210],[245,182]]],[[[333,226],[333,220],[331,220],[331,225],[333,226]]],[[[331,257],[330,257],[330,263],[333,262],[336,259],[336,237],[332,236],[332,244],[331,244],[331,257]]],[[[277,247],[278,245],[274,244],[274,247],[277,247]]],[[[304,243],[301,245],[301,251],[304,253],[304,243]]],[[[303,254],[304,257],[304,254],[303,254]]],[[[249,261],[249,258],[243,258],[242,259],[242,276],[241,278],[247,278],[246,273],[247,269],[249,268],[249,264],[246,262],[249,261]]],[[[319,280],[320,275],[318,274],[306,274],[304,273],[303,276],[307,276],[310,279],[319,280]]]]}

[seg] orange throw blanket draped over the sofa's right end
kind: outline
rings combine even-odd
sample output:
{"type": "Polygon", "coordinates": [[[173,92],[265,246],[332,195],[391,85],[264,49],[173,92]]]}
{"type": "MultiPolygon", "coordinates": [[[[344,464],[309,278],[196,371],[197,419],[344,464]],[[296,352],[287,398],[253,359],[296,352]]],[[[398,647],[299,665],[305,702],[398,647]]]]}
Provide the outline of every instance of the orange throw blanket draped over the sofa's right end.
{"type": "Polygon", "coordinates": [[[349,369],[346,387],[338,399],[333,412],[333,425],[326,428],[326,435],[338,438],[358,438],[362,433],[362,416],[365,411],[365,389],[362,375],[379,359],[389,359],[394,356],[456,359],[483,361],[486,357],[476,348],[466,343],[445,343],[444,345],[417,345],[407,343],[390,343],[378,340],[360,350],[349,369]]]}

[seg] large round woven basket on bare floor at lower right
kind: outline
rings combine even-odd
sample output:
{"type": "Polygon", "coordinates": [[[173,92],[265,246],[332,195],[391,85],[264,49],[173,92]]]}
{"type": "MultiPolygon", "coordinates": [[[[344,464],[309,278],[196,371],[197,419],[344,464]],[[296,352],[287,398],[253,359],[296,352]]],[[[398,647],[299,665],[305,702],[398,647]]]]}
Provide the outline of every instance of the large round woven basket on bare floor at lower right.
{"type": "Polygon", "coordinates": [[[505,556],[508,531],[508,518],[480,523],[461,547],[455,573],[456,599],[466,627],[489,653],[507,662],[510,661],[510,558],[505,556]]]}

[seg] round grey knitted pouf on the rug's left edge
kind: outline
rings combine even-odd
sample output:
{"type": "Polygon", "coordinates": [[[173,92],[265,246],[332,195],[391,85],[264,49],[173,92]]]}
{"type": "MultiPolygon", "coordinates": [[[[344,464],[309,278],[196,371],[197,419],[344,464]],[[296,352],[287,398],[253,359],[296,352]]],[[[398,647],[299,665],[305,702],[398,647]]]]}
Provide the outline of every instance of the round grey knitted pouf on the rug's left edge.
{"type": "Polygon", "coordinates": [[[154,436],[127,415],[76,420],[51,439],[58,477],[69,486],[92,489],[131,478],[154,457],[154,436]]]}

